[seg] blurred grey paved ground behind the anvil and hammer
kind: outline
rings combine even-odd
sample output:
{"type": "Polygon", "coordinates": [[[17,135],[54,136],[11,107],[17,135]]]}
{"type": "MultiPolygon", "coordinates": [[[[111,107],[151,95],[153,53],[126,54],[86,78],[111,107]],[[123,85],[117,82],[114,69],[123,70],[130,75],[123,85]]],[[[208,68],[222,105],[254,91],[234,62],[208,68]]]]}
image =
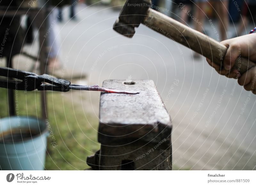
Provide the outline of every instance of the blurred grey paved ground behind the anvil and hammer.
{"type": "MultiPolygon", "coordinates": [[[[256,169],[256,96],[142,25],[132,39],[118,35],[112,30],[118,13],[84,7],[78,22],[59,24],[67,69],[88,74],[89,84],[154,80],[172,117],[174,169],[256,169]]],[[[206,29],[217,39],[209,23],[206,29]]],[[[98,116],[98,95],[90,96],[85,107],[98,116]]]]}

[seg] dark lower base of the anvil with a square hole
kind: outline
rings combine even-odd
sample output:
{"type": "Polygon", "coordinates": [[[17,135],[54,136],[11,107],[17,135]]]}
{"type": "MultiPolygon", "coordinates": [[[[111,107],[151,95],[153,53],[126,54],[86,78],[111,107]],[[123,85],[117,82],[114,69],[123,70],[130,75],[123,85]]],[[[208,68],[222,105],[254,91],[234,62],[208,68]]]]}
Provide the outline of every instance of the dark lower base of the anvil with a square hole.
{"type": "Polygon", "coordinates": [[[172,170],[172,146],[160,148],[162,144],[159,146],[157,144],[134,142],[118,146],[101,145],[99,168],[100,170],[172,170]]]}

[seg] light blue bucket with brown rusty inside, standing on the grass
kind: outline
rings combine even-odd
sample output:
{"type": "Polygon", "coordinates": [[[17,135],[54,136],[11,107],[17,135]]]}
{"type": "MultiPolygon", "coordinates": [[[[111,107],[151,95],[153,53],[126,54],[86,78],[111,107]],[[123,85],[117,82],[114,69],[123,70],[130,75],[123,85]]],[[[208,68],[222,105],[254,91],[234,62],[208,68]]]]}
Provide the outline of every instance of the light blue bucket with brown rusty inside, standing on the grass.
{"type": "Polygon", "coordinates": [[[0,119],[0,170],[44,170],[46,122],[33,117],[0,119]]]}

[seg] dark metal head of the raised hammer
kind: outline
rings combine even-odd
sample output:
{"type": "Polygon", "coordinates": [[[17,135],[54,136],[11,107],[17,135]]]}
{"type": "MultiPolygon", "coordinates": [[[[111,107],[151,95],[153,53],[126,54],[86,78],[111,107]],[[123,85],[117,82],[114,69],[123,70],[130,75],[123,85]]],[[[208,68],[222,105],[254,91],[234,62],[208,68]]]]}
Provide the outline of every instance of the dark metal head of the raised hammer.
{"type": "Polygon", "coordinates": [[[150,7],[151,0],[127,0],[113,29],[126,37],[132,37],[135,27],[139,27],[150,7]]]}

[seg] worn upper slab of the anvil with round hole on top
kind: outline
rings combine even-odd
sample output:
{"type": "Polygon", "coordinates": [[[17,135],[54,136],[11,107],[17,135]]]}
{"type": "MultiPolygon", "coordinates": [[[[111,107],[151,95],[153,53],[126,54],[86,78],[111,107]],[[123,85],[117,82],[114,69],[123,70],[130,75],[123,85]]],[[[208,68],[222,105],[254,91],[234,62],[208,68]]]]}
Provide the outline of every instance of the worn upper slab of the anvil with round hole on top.
{"type": "MultiPolygon", "coordinates": [[[[98,141],[129,143],[142,140],[171,145],[171,119],[152,80],[106,80],[102,87],[140,91],[136,95],[101,93],[98,141]]],[[[164,145],[163,145],[164,146],[164,145]]]]}

